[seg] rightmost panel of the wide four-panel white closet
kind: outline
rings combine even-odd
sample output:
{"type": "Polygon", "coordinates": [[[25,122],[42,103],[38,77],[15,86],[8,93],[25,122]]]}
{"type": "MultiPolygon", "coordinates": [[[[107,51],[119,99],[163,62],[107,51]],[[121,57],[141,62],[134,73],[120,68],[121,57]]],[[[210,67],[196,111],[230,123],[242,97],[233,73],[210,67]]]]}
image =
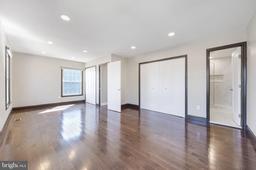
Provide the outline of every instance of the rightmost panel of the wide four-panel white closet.
{"type": "Polygon", "coordinates": [[[171,114],[185,117],[185,59],[175,59],[172,62],[172,101],[171,114]]]}

